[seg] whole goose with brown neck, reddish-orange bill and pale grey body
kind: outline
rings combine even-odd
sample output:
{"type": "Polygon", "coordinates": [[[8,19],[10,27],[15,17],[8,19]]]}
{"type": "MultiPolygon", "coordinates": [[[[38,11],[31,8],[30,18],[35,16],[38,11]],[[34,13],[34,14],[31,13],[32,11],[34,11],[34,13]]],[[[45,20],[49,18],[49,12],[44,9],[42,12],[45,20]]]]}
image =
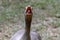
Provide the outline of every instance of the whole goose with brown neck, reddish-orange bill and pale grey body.
{"type": "Polygon", "coordinates": [[[25,8],[25,29],[17,31],[10,40],[41,40],[41,36],[34,31],[30,31],[32,22],[32,7],[25,8]]]}

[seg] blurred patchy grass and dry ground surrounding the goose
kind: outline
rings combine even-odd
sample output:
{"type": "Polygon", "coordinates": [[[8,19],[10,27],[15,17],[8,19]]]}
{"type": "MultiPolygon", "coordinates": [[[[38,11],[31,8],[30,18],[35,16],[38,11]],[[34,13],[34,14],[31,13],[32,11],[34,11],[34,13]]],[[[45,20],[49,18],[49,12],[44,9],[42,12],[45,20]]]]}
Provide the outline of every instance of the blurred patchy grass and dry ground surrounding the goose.
{"type": "Polygon", "coordinates": [[[27,5],[33,7],[31,30],[42,40],[60,40],[60,0],[0,0],[0,40],[24,29],[27,5]]]}

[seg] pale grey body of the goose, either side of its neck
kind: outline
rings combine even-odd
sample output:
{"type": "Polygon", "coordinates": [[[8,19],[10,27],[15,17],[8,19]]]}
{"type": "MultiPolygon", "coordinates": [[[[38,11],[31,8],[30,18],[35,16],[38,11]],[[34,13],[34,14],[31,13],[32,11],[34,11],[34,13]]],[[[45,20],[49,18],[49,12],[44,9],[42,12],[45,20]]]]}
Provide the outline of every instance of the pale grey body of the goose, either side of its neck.
{"type": "MultiPolygon", "coordinates": [[[[11,38],[11,40],[26,40],[24,37],[25,30],[19,30],[17,33],[14,34],[14,36],[11,38]],[[24,37],[24,39],[23,39],[24,37]],[[21,39],[22,38],[22,39],[21,39]]],[[[41,40],[41,37],[38,35],[38,33],[31,31],[30,32],[31,40],[41,40]]]]}

